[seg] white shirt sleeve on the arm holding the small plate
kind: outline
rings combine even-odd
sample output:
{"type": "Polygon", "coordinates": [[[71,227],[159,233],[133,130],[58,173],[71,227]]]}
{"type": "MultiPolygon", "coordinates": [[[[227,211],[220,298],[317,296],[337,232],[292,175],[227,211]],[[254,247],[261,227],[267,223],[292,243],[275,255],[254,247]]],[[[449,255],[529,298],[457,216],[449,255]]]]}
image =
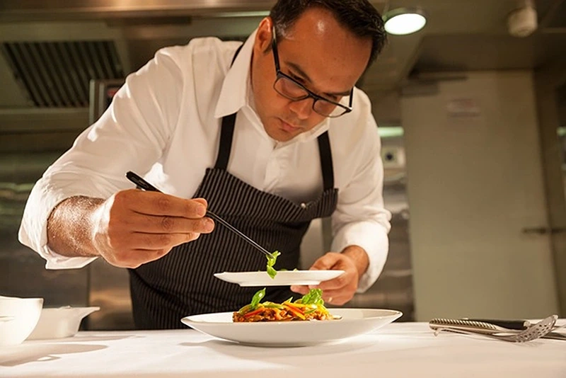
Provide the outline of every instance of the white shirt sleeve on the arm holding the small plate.
{"type": "Polygon", "coordinates": [[[347,246],[364,248],[369,267],[360,277],[357,292],[365,292],[379,277],[386,263],[391,229],[391,212],[383,204],[383,162],[381,142],[373,118],[357,144],[359,160],[352,180],[340,188],[336,211],[332,216],[332,251],[347,246]]]}

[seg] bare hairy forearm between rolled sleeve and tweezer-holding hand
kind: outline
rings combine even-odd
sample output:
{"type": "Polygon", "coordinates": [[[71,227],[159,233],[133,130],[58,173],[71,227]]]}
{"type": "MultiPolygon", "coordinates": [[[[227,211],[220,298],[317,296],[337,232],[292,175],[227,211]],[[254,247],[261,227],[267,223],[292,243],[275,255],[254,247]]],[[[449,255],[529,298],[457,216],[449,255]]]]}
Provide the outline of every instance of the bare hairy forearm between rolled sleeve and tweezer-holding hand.
{"type": "Polygon", "coordinates": [[[98,256],[93,246],[93,213],[101,198],[69,197],[60,202],[47,219],[47,246],[68,257],[98,256]]]}

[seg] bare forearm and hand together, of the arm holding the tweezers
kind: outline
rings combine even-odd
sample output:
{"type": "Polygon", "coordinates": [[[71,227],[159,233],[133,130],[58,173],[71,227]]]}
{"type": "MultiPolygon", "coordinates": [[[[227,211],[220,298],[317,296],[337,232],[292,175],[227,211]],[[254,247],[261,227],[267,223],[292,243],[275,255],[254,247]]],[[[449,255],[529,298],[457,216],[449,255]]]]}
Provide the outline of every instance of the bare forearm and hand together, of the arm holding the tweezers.
{"type": "Polygon", "coordinates": [[[86,198],[87,205],[76,204],[82,217],[73,213],[78,200],[69,200],[54,209],[48,222],[50,248],[65,256],[102,256],[121,268],[157,260],[214,229],[212,219],[204,217],[204,199],[122,190],[108,200],[86,198]]]}

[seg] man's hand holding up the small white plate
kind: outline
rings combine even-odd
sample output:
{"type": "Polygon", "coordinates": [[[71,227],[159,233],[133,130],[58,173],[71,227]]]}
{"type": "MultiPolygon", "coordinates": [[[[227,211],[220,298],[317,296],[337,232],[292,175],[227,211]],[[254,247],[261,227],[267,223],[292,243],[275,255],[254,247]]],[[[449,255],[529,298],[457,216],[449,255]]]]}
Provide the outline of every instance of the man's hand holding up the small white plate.
{"type": "Polygon", "coordinates": [[[291,290],[304,295],[310,289],[319,288],[323,290],[325,302],[345,304],[356,294],[359,277],[365,273],[368,265],[366,251],[359,246],[347,247],[342,253],[328,252],[313,263],[311,270],[344,270],[344,274],[316,286],[293,285],[291,290]]]}

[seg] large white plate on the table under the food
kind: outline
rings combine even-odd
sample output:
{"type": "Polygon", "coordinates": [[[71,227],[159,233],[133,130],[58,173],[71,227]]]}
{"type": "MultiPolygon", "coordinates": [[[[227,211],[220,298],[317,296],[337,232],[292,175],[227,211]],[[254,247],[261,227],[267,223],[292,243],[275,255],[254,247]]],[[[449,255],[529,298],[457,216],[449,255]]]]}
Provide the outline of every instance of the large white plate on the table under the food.
{"type": "Polygon", "coordinates": [[[233,323],[231,312],[186,316],[187,326],[209,336],[246,345],[293,347],[344,340],[395,321],[400,311],[387,309],[330,309],[340,320],[264,321],[233,323]]]}

